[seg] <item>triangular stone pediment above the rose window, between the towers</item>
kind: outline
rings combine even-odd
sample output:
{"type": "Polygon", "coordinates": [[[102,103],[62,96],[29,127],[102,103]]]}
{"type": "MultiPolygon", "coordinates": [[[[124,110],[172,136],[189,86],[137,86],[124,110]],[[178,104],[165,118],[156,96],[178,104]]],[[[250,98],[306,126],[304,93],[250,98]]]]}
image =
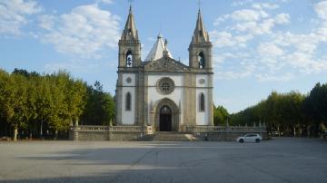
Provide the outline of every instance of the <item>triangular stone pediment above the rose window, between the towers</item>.
{"type": "Polygon", "coordinates": [[[158,60],[151,61],[144,65],[145,71],[166,71],[166,72],[183,72],[189,68],[183,63],[177,62],[170,57],[163,57],[158,60]]]}

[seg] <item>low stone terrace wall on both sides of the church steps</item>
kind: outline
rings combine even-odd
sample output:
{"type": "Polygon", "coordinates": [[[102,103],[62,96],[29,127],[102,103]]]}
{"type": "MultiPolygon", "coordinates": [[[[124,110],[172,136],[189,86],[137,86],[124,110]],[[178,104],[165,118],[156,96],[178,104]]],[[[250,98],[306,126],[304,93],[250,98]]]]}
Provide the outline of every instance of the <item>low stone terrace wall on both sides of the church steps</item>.
{"type": "MultiPolygon", "coordinates": [[[[245,133],[259,133],[268,139],[264,126],[183,126],[183,133],[193,134],[197,140],[233,141],[245,133]]],[[[70,140],[153,140],[152,126],[74,126],[69,133],[70,140]]]]}

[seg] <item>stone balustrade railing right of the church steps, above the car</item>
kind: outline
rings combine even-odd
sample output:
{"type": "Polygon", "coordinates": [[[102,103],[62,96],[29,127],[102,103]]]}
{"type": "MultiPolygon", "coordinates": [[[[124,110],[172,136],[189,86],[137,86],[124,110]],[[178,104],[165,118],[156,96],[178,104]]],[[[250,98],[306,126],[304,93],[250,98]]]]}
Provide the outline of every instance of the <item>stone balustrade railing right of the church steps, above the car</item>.
{"type": "Polygon", "coordinates": [[[241,127],[241,126],[184,126],[187,132],[266,132],[265,127],[241,127]]]}

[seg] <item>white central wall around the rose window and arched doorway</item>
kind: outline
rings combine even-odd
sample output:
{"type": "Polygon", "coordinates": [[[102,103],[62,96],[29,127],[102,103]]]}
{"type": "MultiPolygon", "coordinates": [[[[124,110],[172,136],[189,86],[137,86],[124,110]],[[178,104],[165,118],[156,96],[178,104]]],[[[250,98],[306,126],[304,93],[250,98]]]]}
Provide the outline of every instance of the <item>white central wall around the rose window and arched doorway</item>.
{"type": "MultiPolygon", "coordinates": [[[[181,118],[180,122],[183,124],[183,75],[148,75],[148,122],[151,122],[151,102],[154,105],[157,101],[160,101],[164,98],[168,98],[179,107],[181,103],[181,118]],[[172,93],[164,95],[158,91],[156,88],[156,84],[158,81],[160,81],[162,78],[168,77],[173,80],[174,82],[174,90],[172,93]]],[[[152,121],[154,122],[154,121],[152,121]]]]}

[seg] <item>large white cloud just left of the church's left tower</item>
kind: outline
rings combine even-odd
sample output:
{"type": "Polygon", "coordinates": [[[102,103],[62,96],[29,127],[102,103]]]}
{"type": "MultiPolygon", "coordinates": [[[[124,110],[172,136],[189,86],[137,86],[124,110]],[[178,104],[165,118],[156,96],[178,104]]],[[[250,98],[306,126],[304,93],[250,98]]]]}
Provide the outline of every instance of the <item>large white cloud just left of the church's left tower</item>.
{"type": "Polygon", "coordinates": [[[45,29],[41,39],[54,44],[59,53],[98,58],[102,49],[117,46],[118,19],[96,4],[77,6],[69,14],[41,16],[39,26],[45,29]],[[49,22],[45,24],[44,20],[49,22]]]}

